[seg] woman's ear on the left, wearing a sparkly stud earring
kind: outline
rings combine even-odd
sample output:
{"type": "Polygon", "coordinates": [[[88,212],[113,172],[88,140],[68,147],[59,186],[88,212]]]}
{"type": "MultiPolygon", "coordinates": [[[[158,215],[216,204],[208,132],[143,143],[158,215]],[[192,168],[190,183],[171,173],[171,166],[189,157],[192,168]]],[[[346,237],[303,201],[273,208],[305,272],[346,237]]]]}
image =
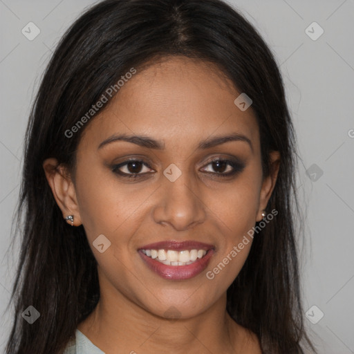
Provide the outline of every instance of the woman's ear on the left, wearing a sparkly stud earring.
{"type": "MultiPolygon", "coordinates": [[[[63,218],[68,215],[74,216],[73,225],[81,225],[81,217],[79,205],[73,180],[68,172],[68,169],[59,165],[57,159],[48,158],[43,162],[46,178],[52,189],[53,196],[57,205],[62,210],[63,218]]],[[[67,221],[71,225],[71,221],[67,221]]]]}

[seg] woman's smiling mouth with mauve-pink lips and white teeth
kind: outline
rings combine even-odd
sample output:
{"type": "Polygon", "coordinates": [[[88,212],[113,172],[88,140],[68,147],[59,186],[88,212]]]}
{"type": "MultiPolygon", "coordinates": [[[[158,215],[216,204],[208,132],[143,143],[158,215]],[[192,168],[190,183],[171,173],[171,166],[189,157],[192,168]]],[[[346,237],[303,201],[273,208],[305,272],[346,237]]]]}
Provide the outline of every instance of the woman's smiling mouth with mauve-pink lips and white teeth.
{"type": "Polygon", "coordinates": [[[147,267],[160,277],[185,280],[207,268],[215,246],[195,241],[151,243],[138,249],[147,267]]]}

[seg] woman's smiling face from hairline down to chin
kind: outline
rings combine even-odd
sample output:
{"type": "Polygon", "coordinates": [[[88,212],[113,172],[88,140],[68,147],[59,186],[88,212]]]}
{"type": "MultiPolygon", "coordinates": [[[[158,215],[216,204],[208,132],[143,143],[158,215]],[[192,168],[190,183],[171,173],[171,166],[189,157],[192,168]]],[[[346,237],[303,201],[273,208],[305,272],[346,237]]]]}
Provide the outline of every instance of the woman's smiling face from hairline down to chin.
{"type": "Polygon", "coordinates": [[[234,104],[239,94],[212,64],[174,57],[138,71],[89,122],[75,183],[51,186],[63,215],[84,225],[102,294],[182,318],[225,295],[276,178],[263,178],[257,120],[234,104]]]}

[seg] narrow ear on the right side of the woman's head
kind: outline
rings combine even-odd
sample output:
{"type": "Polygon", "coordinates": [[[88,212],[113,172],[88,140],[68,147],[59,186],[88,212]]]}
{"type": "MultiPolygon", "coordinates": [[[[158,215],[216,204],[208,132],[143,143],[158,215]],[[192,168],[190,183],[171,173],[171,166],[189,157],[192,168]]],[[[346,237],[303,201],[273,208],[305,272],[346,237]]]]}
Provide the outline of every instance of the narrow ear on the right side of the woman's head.
{"type": "Polygon", "coordinates": [[[261,221],[263,216],[263,209],[268,204],[269,198],[272,195],[275,183],[277,181],[277,176],[280,166],[280,153],[279,151],[270,151],[270,173],[269,176],[263,179],[261,194],[259,196],[259,209],[257,212],[256,221],[261,221]]]}

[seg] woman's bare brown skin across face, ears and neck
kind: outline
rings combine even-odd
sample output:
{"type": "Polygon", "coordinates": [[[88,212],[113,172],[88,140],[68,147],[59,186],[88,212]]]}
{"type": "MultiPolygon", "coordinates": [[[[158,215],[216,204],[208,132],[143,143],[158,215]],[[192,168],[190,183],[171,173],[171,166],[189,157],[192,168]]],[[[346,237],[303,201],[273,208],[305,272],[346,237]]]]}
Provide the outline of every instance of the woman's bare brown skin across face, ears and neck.
{"type": "MultiPolygon", "coordinates": [[[[257,337],[227,314],[226,290],[239,274],[252,242],[209,280],[212,270],[261,221],[279,171],[263,178],[257,120],[252,106],[241,111],[240,93],[213,64],[171,57],[138,71],[97,118],[86,125],[77,149],[75,178],[49,158],[43,164],[63,218],[75,216],[98,263],[100,301],[78,328],[105,353],[261,353],[257,337]],[[247,142],[197,149],[198,142],[236,132],[247,142]],[[115,133],[149,136],[165,149],[116,141],[97,149],[115,133]],[[120,171],[146,174],[129,180],[113,165],[136,157],[150,167],[124,165],[120,171]],[[239,158],[245,167],[218,167],[215,158],[239,158]],[[174,163],[174,182],[163,171],[174,163]],[[137,172],[138,171],[138,172],[137,172]],[[93,247],[104,234],[111,246],[93,247]],[[192,279],[162,279],[147,268],[137,249],[148,243],[194,240],[215,245],[207,269],[192,279]],[[171,306],[178,320],[166,314],[171,306]]],[[[270,212],[270,211],[268,211],[270,212]]],[[[70,223],[68,221],[68,223],[70,223]]],[[[251,239],[252,241],[252,239],[251,239]]]]}

